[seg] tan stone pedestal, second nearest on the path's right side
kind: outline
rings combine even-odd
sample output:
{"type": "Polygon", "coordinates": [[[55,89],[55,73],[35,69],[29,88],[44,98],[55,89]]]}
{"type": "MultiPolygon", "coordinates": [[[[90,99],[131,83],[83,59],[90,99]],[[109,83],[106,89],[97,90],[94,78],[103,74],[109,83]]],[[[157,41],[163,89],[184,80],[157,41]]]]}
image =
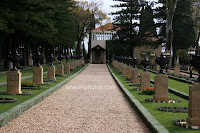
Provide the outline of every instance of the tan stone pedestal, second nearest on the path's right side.
{"type": "Polygon", "coordinates": [[[168,96],[168,78],[165,74],[155,76],[155,94],[154,101],[169,101],[168,96]]]}

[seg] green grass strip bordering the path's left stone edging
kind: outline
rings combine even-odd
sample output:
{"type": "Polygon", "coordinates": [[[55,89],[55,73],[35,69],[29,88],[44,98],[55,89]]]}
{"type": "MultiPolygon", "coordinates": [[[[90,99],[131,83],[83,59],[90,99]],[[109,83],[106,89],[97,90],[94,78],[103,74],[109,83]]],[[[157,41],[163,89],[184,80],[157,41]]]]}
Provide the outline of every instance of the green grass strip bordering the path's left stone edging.
{"type": "MultiPolygon", "coordinates": [[[[42,85],[43,89],[40,90],[30,90],[30,89],[22,89],[23,92],[32,92],[33,95],[28,95],[28,96],[19,96],[19,95],[0,95],[0,97],[9,97],[9,98],[17,98],[18,102],[16,103],[0,103],[0,113],[4,113],[7,110],[11,109],[12,107],[25,102],[26,100],[44,92],[45,90],[49,89],[50,87],[60,83],[61,81],[65,80],[66,78],[70,77],[71,75],[73,75],[74,73],[76,73],[77,71],[79,71],[81,68],[83,68],[84,65],[76,68],[74,71],[71,71],[70,74],[65,75],[65,77],[57,77],[57,82],[50,82],[50,85],[42,85]]],[[[47,75],[46,75],[47,76],[47,75]]],[[[44,76],[44,77],[46,77],[44,76]]],[[[32,80],[27,80],[28,82],[32,82],[32,80]]],[[[0,91],[6,91],[6,87],[2,87],[0,88],[0,91]]]]}

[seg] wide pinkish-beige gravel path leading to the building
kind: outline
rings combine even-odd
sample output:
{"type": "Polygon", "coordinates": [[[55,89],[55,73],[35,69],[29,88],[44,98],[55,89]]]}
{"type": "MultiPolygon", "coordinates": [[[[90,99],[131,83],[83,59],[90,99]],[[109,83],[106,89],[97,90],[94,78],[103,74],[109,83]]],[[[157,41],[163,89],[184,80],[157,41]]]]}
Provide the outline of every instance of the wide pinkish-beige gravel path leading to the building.
{"type": "Polygon", "coordinates": [[[0,133],[149,133],[106,65],[90,64],[0,133]]]}

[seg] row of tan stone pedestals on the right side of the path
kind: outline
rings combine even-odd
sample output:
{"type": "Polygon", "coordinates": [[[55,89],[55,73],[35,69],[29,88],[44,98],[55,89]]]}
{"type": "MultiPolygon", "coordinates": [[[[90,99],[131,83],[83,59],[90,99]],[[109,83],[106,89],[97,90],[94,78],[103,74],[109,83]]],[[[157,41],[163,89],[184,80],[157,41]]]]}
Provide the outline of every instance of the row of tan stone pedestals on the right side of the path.
{"type": "MultiPolygon", "coordinates": [[[[132,68],[131,65],[117,60],[113,60],[112,65],[125,75],[126,78],[130,78],[131,83],[139,83],[138,69],[136,67],[132,68]]],[[[140,89],[147,88],[150,88],[150,73],[148,71],[143,71],[140,74],[140,89]]],[[[167,75],[159,73],[155,76],[154,88],[155,94],[153,96],[153,101],[169,101],[167,75]]],[[[188,117],[186,122],[192,126],[200,125],[200,82],[195,82],[189,87],[188,117]]]]}

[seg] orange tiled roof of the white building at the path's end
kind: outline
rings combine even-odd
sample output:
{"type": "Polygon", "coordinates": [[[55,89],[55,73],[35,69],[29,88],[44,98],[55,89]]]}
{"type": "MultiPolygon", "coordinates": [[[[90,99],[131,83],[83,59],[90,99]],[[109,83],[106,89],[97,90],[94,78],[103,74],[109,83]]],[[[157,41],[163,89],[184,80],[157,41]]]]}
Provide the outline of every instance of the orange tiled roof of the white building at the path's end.
{"type": "Polygon", "coordinates": [[[112,23],[107,23],[107,24],[105,24],[105,25],[102,25],[102,26],[100,26],[100,27],[98,27],[98,28],[93,29],[92,31],[118,31],[118,30],[120,29],[120,28],[118,27],[118,28],[116,28],[116,29],[114,30],[114,28],[116,28],[115,25],[113,25],[112,23]]]}

